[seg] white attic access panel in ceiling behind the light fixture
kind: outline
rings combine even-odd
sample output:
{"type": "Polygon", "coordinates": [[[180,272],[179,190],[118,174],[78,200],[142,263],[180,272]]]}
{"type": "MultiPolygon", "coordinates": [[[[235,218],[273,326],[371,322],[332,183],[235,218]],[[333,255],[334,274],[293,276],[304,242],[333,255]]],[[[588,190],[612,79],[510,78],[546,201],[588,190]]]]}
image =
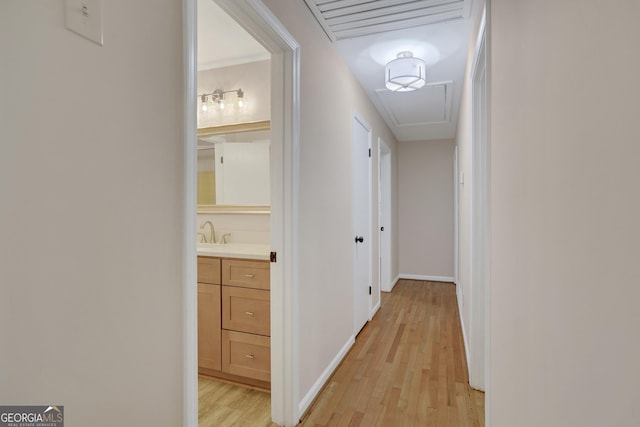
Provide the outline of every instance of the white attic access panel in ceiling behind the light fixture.
{"type": "Polygon", "coordinates": [[[394,126],[447,123],[451,116],[453,83],[435,83],[413,92],[376,91],[394,126]]]}

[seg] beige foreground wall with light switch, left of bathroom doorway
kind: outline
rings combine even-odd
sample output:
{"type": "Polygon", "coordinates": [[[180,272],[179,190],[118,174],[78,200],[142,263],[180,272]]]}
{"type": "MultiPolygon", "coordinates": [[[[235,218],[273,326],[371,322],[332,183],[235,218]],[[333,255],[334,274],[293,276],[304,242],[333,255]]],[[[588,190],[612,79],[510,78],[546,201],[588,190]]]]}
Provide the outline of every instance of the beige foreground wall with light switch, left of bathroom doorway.
{"type": "Polygon", "coordinates": [[[0,2],[2,404],[182,423],[181,15],[103,2],[99,47],[0,2]]]}

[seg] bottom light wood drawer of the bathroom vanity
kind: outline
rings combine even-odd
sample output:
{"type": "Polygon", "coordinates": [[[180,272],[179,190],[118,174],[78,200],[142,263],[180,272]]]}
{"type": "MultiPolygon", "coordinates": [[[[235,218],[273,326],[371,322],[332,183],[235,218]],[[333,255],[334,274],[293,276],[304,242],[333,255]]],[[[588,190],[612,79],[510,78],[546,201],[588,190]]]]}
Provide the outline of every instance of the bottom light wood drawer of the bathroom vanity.
{"type": "Polygon", "coordinates": [[[271,381],[269,337],[223,330],[222,372],[271,381]]]}

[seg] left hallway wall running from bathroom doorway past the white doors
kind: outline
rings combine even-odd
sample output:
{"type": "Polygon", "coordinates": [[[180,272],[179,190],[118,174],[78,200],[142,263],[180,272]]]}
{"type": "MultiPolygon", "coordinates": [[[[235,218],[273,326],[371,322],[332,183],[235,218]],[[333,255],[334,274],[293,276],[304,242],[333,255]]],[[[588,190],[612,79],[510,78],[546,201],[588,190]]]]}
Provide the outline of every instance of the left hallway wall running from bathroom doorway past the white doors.
{"type": "MultiPolygon", "coordinates": [[[[373,127],[373,205],[377,206],[377,140],[396,142],[369,98],[304,2],[264,2],[301,45],[299,313],[300,398],[352,337],[353,232],[351,121],[354,110],[373,127]]],[[[394,165],[393,174],[397,176],[394,165]]],[[[396,184],[394,184],[396,185],[396,184]]],[[[394,201],[395,202],[395,201],[394,201]]],[[[372,228],[377,224],[374,209],[372,228]]],[[[393,220],[397,230],[397,218],[393,220]]],[[[378,234],[373,253],[378,253],[378,234]]],[[[393,252],[397,253],[397,242],[393,252]]],[[[374,271],[378,271],[374,257],[374,271]]],[[[394,261],[397,274],[397,259],[394,261]]],[[[374,275],[374,301],[379,283],[374,275]]]]}

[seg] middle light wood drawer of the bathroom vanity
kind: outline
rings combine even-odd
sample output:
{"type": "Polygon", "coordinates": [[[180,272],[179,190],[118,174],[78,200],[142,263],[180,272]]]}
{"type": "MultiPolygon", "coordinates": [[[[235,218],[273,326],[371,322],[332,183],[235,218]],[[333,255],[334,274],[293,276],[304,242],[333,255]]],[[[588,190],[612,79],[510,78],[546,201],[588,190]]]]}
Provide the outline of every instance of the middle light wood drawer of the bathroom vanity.
{"type": "Polygon", "coordinates": [[[270,335],[269,291],[222,287],[222,328],[270,335]]]}

